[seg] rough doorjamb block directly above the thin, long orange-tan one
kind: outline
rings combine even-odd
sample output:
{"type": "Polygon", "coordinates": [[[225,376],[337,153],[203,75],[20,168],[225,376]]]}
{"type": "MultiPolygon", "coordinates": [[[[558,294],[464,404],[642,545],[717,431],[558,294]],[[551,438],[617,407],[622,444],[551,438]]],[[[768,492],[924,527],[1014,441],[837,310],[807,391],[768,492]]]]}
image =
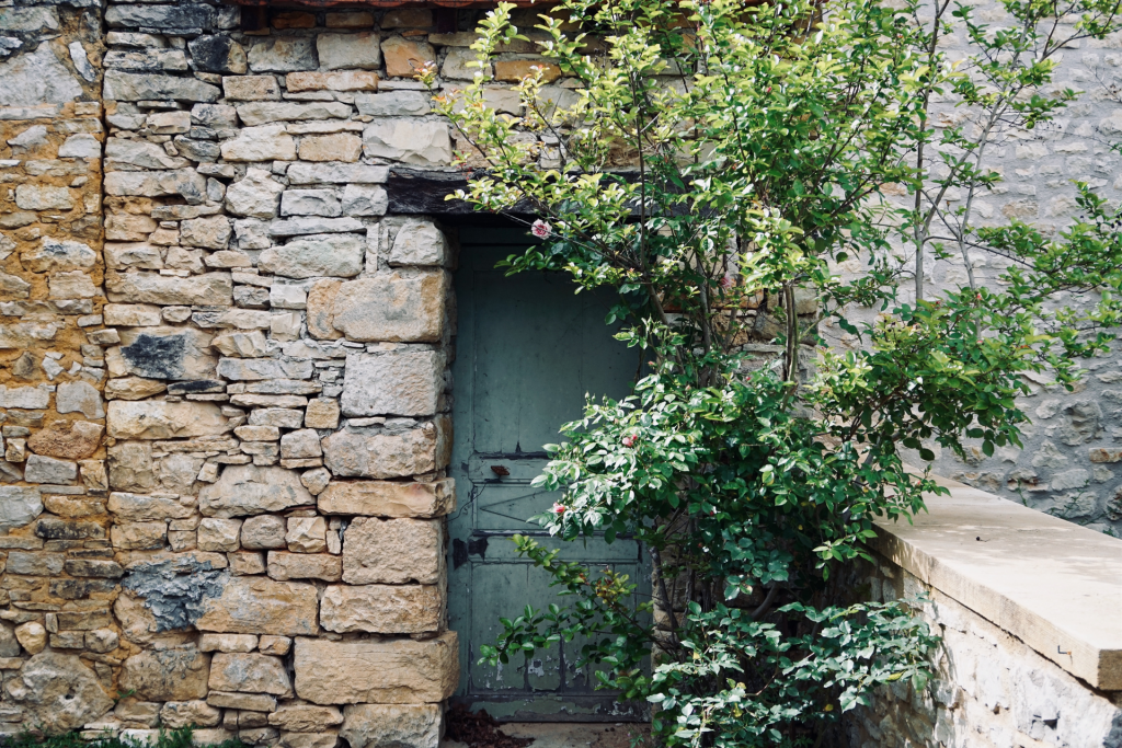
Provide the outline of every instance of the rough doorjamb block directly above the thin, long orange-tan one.
{"type": "Polygon", "coordinates": [[[452,425],[447,417],[401,433],[348,427],[322,440],[323,464],[346,478],[405,478],[433,472],[448,465],[451,436],[452,425]]]}

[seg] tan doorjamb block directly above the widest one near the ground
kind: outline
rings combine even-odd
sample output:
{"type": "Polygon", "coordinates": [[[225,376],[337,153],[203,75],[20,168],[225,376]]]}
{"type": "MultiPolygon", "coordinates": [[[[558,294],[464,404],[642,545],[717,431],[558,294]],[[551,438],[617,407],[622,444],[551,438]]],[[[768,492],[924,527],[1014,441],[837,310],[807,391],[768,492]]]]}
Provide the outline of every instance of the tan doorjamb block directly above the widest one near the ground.
{"type": "Polygon", "coordinates": [[[338,634],[423,634],[440,628],[443,609],[435,584],[332,584],[320,601],[320,625],[338,634]]]}

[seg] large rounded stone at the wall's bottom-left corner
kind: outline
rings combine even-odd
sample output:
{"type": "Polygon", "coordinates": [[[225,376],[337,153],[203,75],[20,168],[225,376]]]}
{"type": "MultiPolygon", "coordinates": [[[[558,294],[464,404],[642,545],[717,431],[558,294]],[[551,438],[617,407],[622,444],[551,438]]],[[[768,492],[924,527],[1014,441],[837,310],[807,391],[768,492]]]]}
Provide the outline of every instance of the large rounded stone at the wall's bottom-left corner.
{"type": "Polygon", "coordinates": [[[98,676],[75,655],[42,652],[4,684],[26,719],[48,732],[74,730],[113,708],[98,676]]]}

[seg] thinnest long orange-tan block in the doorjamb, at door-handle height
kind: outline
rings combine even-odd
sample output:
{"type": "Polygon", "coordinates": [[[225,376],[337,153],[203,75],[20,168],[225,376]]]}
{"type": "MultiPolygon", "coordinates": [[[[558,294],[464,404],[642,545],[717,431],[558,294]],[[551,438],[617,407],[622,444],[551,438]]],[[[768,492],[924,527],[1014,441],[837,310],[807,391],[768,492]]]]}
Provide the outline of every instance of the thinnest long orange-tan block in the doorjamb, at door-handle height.
{"type": "Polygon", "coordinates": [[[332,481],[319,496],[325,515],[368,517],[443,517],[456,510],[456,481],[431,483],[360,480],[332,481]]]}

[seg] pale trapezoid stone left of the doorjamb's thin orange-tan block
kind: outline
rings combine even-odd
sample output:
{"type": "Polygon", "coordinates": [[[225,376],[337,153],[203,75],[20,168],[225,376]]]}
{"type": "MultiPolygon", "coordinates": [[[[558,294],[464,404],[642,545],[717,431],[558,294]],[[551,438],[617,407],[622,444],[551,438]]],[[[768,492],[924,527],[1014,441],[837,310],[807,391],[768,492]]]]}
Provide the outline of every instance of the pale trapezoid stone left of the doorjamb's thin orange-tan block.
{"type": "Polygon", "coordinates": [[[208,517],[284,511],[314,502],[298,473],[277,467],[228,465],[218,482],[199,493],[199,510],[208,517]]]}

